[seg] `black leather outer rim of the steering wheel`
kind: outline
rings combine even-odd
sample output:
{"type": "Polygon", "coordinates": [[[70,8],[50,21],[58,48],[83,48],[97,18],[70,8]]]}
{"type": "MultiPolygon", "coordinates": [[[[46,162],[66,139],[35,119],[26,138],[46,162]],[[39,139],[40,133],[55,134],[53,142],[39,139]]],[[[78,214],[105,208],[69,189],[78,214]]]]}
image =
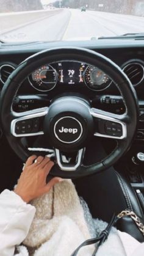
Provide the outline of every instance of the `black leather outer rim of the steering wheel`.
{"type": "Polygon", "coordinates": [[[121,141],[117,141],[117,147],[112,153],[110,153],[110,155],[107,156],[107,158],[103,159],[100,163],[93,164],[92,166],[84,166],[84,164],[81,164],[79,169],[67,172],[67,175],[57,167],[54,168],[52,172],[52,175],[60,175],[60,177],[82,177],[100,172],[115,164],[130,147],[137,128],[139,104],[134,87],[121,68],[106,56],[96,53],[90,49],[67,47],[48,49],[28,57],[13,71],[2,89],[0,103],[1,125],[10,146],[13,148],[16,155],[25,161],[29,156],[29,152],[24,148],[21,143],[21,139],[13,137],[10,133],[13,99],[21,83],[32,73],[32,71],[43,64],[52,64],[53,62],[60,62],[63,60],[82,62],[103,70],[104,73],[106,73],[110,79],[115,82],[123,96],[124,104],[126,106],[126,113],[123,114],[123,120],[126,121],[127,125],[127,137],[121,141]]]}

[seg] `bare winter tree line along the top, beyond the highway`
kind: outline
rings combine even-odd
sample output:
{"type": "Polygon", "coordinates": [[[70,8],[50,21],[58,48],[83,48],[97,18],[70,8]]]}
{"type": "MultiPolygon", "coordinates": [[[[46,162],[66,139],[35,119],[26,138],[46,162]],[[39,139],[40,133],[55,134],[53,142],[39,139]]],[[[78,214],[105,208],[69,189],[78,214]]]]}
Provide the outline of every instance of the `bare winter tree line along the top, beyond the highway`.
{"type": "MultiPolygon", "coordinates": [[[[142,0],[56,0],[52,4],[57,8],[78,9],[85,6],[89,10],[144,15],[142,0]]],[[[0,0],[0,13],[40,9],[43,9],[40,0],[0,0]]]]}

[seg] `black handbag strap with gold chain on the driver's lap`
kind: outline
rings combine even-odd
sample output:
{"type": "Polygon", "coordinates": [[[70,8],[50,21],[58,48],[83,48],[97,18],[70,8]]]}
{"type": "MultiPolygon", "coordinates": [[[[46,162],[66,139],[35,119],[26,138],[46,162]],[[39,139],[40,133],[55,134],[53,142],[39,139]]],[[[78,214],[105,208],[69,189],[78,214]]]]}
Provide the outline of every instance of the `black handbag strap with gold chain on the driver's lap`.
{"type": "Polygon", "coordinates": [[[113,214],[112,219],[110,223],[107,225],[106,229],[103,230],[103,232],[101,232],[101,234],[98,237],[88,239],[84,241],[84,243],[80,244],[80,246],[77,247],[77,249],[73,252],[73,254],[71,254],[71,256],[76,256],[79,250],[81,249],[81,247],[88,246],[90,244],[96,244],[95,251],[92,254],[92,256],[95,256],[96,252],[98,251],[98,247],[101,246],[104,243],[104,241],[107,240],[112,227],[117,223],[119,219],[126,216],[132,218],[132,220],[135,222],[135,225],[144,236],[144,225],[140,221],[140,218],[133,211],[124,210],[124,211],[121,211],[121,213],[118,215],[113,214]]]}

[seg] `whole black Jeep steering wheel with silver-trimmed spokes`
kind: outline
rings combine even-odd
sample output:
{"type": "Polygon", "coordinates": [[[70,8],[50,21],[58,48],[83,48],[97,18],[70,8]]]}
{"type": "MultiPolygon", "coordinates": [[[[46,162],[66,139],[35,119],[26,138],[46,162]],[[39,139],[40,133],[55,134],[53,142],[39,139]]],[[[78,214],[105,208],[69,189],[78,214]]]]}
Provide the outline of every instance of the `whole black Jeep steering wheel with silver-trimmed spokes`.
{"type": "MultiPolygon", "coordinates": [[[[118,65],[95,51],[84,48],[54,48],[34,54],[21,62],[9,76],[1,92],[1,125],[10,146],[23,161],[32,155],[24,146],[23,137],[45,136],[51,141],[56,163],[51,175],[63,178],[84,177],[95,174],[115,164],[128,150],[134,138],[139,116],[139,106],[135,90],[118,65]],[[60,95],[50,106],[32,111],[15,112],[13,100],[26,77],[43,64],[60,61],[76,61],[98,67],[115,83],[121,92],[126,107],[124,114],[112,114],[92,108],[90,101],[81,95],[60,95]],[[31,124],[38,123],[36,130],[29,131],[31,124]],[[27,132],[19,129],[25,125],[27,132]],[[114,128],[115,133],[110,132],[114,128]],[[117,146],[99,163],[84,165],[87,143],[93,136],[115,139],[117,146]],[[76,152],[74,163],[63,163],[63,152],[76,152]]],[[[53,151],[52,151],[53,150],[53,151]]]]}

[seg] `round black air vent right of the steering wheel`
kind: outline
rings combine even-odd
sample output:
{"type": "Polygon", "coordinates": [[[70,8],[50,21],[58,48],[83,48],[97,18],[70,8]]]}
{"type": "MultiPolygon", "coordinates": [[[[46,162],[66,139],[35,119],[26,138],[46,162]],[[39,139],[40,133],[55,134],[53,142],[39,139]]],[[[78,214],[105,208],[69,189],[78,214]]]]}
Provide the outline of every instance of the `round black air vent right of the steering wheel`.
{"type": "Polygon", "coordinates": [[[124,73],[128,76],[133,86],[137,86],[144,79],[144,67],[139,62],[131,62],[124,66],[124,73]]]}

